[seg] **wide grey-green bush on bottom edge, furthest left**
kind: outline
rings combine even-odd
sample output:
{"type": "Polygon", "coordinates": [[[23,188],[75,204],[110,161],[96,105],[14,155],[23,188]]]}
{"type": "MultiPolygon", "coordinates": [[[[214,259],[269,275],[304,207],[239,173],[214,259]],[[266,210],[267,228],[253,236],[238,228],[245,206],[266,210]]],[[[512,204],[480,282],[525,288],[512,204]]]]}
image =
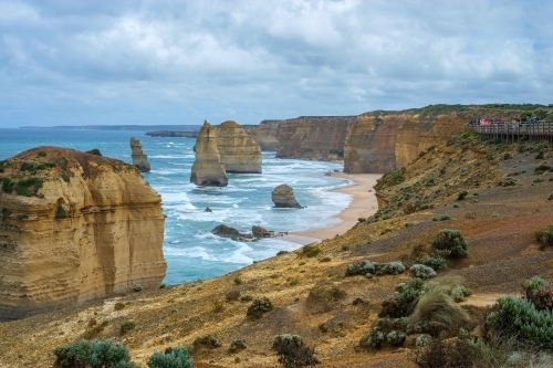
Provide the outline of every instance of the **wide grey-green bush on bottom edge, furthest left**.
{"type": "Polygon", "coordinates": [[[59,346],[54,349],[56,368],[138,368],[131,361],[125,345],[113,344],[112,339],[81,340],[72,345],[59,346]]]}

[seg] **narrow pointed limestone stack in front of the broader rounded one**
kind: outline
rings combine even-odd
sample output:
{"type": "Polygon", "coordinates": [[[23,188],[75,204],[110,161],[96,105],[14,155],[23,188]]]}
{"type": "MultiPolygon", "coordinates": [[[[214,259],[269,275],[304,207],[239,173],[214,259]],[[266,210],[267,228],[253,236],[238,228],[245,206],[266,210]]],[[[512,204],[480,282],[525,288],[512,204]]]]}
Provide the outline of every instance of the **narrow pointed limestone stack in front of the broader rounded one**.
{"type": "Polygon", "coordinates": [[[229,178],[217,148],[217,133],[208,122],[204,122],[195,147],[190,181],[197,186],[226,187],[229,178]]]}

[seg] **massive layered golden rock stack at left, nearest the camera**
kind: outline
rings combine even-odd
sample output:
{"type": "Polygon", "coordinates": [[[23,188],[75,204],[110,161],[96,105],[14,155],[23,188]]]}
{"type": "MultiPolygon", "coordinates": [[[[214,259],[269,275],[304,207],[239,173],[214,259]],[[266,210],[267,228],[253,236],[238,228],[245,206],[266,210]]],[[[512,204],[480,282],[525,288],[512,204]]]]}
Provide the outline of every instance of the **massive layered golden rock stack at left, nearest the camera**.
{"type": "Polygon", "coordinates": [[[161,197],[134,166],[38,147],[0,181],[0,319],[160,284],[161,197]]]}

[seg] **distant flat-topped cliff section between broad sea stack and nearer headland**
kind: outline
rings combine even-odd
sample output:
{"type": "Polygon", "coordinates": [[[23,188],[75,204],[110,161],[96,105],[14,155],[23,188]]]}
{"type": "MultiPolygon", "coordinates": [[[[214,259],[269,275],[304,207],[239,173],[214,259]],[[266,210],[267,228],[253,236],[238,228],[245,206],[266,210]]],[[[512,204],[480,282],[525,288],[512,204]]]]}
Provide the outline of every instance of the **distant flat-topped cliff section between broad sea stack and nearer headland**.
{"type": "Polygon", "coordinates": [[[355,116],[304,116],[279,126],[280,158],[342,159],[344,141],[355,116]]]}

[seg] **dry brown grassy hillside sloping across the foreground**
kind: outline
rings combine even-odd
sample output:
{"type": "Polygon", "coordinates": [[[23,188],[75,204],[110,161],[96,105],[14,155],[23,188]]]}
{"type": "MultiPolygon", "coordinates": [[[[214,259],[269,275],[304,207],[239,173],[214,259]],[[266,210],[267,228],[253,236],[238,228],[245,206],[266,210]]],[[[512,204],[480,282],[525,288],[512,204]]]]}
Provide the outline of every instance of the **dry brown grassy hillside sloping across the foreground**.
{"type": "Polygon", "coordinates": [[[553,223],[547,200],[553,174],[535,174],[542,164],[553,164],[545,144],[481,141],[463,133],[385,175],[376,186],[378,212],[316,244],[319,254],[309,256],[313,253],[303,248],[222,277],[0,324],[0,367],[50,367],[55,346],[83,337],[121,340],[145,367],[154,350],[190,345],[207,335],[222,345],[197,345],[192,357],[198,367],[279,367],[271,345],[283,333],[314,346],[320,367],[415,367],[409,359],[413,339],[403,349],[359,346],[382,302],[410,273],[346,276],[348,264],[401,261],[409,269],[429,252],[440,230],[458,229],[469,255],[448,260],[436,280],[463,277],[472,290],[465,308],[478,325],[499,295],[519,294],[534,275],[553,278],[552,249],[540,248],[534,235],[553,223]],[[458,200],[463,189],[468,193],[458,200]],[[440,214],[450,220],[432,221],[440,214]],[[247,317],[251,301],[240,301],[247,295],[265,296],[274,308],[260,318],[247,317]],[[136,328],[122,335],[127,320],[136,328]],[[248,348],[229,353],[234,339],[244,339],[248,348]]]}

